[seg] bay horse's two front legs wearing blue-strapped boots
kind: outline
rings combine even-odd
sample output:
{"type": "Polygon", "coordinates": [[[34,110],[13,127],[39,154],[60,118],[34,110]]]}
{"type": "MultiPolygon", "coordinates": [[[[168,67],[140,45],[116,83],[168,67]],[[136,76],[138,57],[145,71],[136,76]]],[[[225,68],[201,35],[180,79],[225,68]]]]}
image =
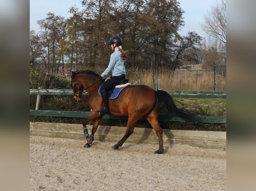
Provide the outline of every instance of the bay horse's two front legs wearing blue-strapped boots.
{"type": "MultiPolygon", "coordinates": [[[[90,113],[91,114],[91,113],[90,113]]],[[[90,116],[90,115],[89,115],[90,116]]],[[[89,117],[88,116],[88,117],[89,117]]],[[[84,136],[86,137],[86,139],[87,139],[87,143],[85,144],[85,146],[84,147],[90,147],[91,145],[90,144],[92,144],[93,143],[93,140],[94,140],[94,133],[97,131],[97,128],[98,128],[98,126],[99,126],[99,124],[100,124],[100,122],[101,122],[101,119],[102,119],[102,115],[101,116],[98,116],[98,117],[96,117],[95,118],[95,122],[94,122],[94,124],[93,124],[93,128],[92,128],[92,134],[89,136],[89,133],[88,133],[88,130],[87,130],[87,128],[86,128],[86,125],[87,125],[87,123],[89,122],[89,121],[92,121],[92,120],[89,120],[88,119],[88,117],[85,119],[85,121],[84,121],[84,123],[83,123],[83,129],[84,129],[84,136]]]]}

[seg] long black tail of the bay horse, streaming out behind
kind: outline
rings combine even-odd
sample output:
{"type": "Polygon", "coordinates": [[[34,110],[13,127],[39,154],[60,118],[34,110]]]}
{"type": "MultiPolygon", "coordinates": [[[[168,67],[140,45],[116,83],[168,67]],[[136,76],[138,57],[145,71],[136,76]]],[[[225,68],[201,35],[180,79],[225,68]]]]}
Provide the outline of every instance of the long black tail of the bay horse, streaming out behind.
{"type": "Polygon", "coordinates": [[[158,90],[155,92],[155,97],[158,99],[158,102],[155,105],[155,108],[158,110],[161,108],[166,108],[169,112],[176,114],[185,121],[195,122],[195,115],[186,109],[177,108],[171,95],[169,95],[167,92],[158,90]]]}

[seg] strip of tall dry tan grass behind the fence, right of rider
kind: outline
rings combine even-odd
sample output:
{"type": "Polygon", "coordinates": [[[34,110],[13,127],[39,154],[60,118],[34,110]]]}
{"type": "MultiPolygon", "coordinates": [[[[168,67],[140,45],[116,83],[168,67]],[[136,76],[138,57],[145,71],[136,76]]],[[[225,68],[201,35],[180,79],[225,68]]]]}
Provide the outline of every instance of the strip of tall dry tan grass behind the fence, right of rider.
{"type": "MultiPolygon", "coordinates": [[[[140,79],[141,84],[153,89],[160,79],[162,90],[214,91],[213,71],[128,71],[126,77],[131,83],[140,79]]],[[[216,75],[215,83],[215,91],[226,91],[225,76],[216,75]]]]}

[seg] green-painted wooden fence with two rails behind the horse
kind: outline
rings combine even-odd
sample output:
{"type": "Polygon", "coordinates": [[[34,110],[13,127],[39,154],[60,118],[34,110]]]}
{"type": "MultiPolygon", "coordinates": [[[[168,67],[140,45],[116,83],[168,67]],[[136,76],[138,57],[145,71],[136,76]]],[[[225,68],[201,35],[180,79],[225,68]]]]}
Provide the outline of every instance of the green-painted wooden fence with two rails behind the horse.
{"type": "MultiPolygon", "coordinates": [[[[195,97],[195,98],[226,98],[226,92],[207,92],[207,91],[167,91],[172,97],[195,97]]],[[[72,95],[71,89],[30,89],[30,95],[72,95]]],[[[87,93],[83,95],[88,96],[87,93]]],[[[39,99],[40,100],[40,99],[39,99]]],[[[39,104],[39,103],[38,103],[39,104]]],[[[36,105],[38,108],[38,105],[36,105]]],[[[85,118],[90,112],[86,111],[56,111],[31,109],[30,115],[55,116],[55,117],[81,117],[85,118]]],[[[104,115],[103,119],[128,119],[124,116],[104,115]]],[[[143,117],[141,120],[146,120],[143,117]]],[[[184,121],[176,115],[159,114],[158,120],[162,121],[184,121]]],[[[225,116],[196,116],[196,121],[201,123],[226,123],[225,116]]]]}

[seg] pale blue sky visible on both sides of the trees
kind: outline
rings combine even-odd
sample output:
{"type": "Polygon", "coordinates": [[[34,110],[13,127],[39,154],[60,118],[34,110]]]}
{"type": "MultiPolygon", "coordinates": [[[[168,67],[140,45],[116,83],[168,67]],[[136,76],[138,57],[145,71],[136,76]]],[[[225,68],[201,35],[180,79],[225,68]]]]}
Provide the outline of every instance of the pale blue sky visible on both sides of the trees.
{"type": "MultiPolygon", "coordinates": [[[[76,4],[82,10],[81,0],[30,0],[30,30],[39,31],[37,20],[45,19],[48,12],[65,18],[72,16],[68,13],[69,8],[76,4]]],[[[201,29],[200,23],[204,22],[204,15],[211,10],[216,0],[177,0],[180,7],[185,11],[183,14],[185,26],[180,35],[185,36],[188,31],[194,31],[203,38],[207,35],[201,29]]]]}

